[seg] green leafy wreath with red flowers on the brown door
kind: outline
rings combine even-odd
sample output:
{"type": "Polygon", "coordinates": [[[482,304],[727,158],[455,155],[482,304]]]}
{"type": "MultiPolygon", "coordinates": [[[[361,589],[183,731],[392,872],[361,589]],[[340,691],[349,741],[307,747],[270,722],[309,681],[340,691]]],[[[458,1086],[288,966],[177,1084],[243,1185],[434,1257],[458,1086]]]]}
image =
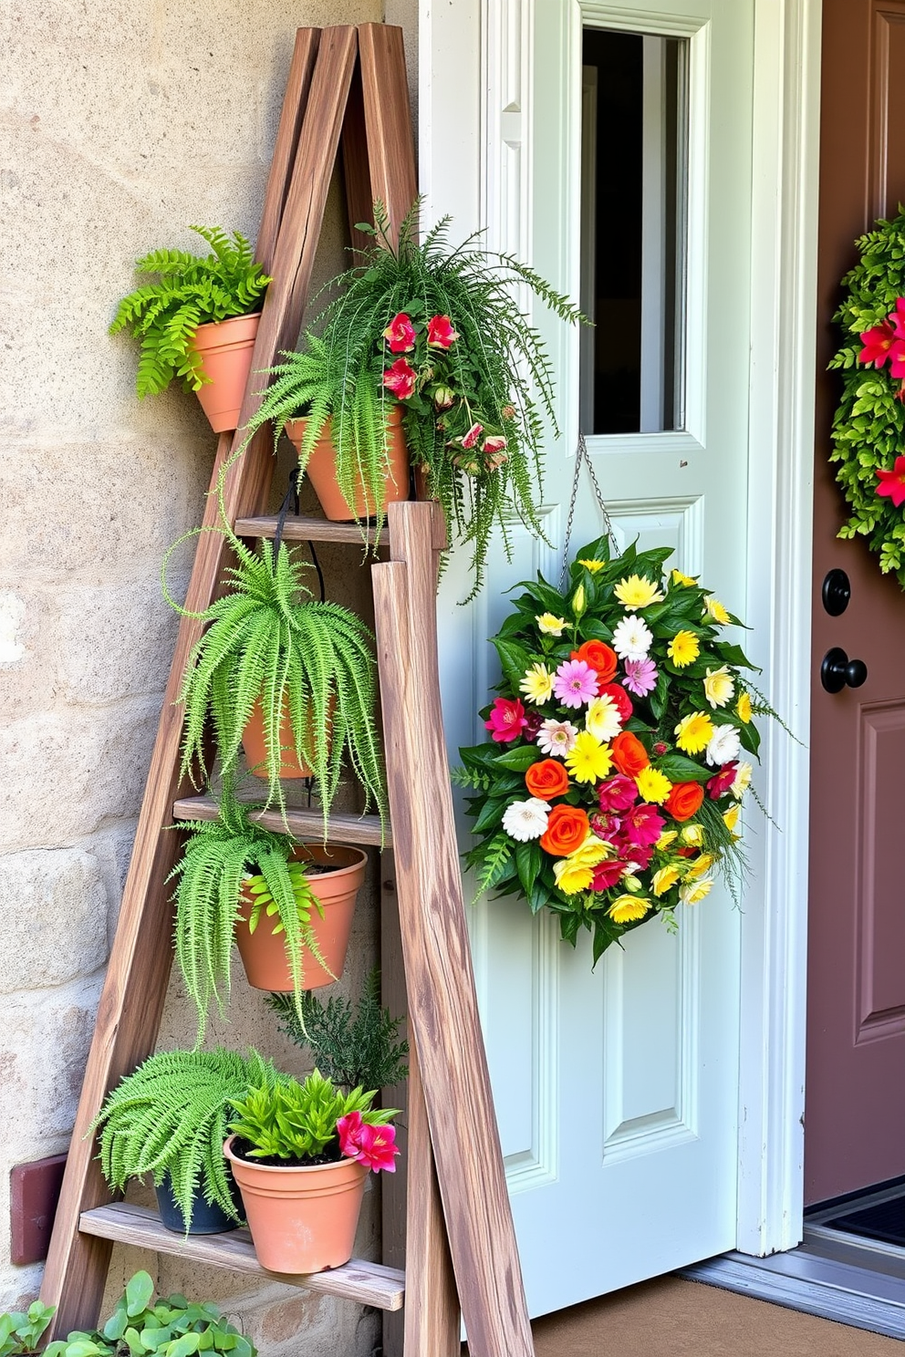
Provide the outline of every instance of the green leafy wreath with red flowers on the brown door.
{"type": "Polygon", "coordinates": [[[839,536],[867,537],[905,589],[905,214],[878,221],[858,248],[833,318],[847,343],[829,365],[845,372],[830,461],[852,516],[839,536]]]}

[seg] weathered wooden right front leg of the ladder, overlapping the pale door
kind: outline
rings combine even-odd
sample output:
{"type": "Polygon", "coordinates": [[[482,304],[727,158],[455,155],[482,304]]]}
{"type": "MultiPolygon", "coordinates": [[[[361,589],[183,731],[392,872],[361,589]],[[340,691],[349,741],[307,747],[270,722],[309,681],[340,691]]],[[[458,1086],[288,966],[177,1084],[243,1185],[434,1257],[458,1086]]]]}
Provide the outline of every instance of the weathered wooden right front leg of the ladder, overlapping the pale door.
{"type": "Polygon", "coordinates": [[[408,1019],[471,1357],[529,1357],[442,738],[431,569],[438,513],[391,505],[393,559],[372,569],[408,1019]]]}

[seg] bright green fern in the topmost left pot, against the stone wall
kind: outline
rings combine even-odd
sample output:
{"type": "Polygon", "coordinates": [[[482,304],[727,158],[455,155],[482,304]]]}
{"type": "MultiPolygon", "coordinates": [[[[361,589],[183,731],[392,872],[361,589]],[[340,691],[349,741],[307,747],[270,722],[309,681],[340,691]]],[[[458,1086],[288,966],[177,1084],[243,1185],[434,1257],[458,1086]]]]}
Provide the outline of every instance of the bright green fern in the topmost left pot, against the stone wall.
{"type": "Polygon", "coordinates": [[[130,328],[141,339],[138,396],[166,391],[174,377],[182,377],[186,391],[198,391],[209,379],[193,347],[195,330],[255,311],[271,281],[239,231],[228,236],[218,227],[190,229],[213,252],[201,256],[185,250],[152,250],[136,261],[137,273],[156,273],[160,281],[123,297],[110,326],[110,334],[130,328]]]}

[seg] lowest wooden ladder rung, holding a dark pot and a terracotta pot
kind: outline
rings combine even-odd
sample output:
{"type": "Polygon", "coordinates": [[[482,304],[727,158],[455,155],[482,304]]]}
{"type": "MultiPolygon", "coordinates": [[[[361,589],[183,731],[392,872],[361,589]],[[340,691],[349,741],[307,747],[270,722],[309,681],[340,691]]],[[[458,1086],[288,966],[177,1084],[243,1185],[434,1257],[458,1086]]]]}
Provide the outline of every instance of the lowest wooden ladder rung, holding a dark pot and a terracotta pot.
{"type": "Polygon", "coordinates": [[[254,1273],[282,1281],[288,1286],[307,1286],[308,1291],[319,1291],[327,1296],[376,1305],[377,1310],[402,1310],[406,1295],[406,1274],[396,1267],[353,1258],[342,1267],[323,1273],[271,1273],[258,1262],[247,1229],[231,1229],[225,1235],[176,1235],[164,1228],[156,1212],[129,1202],[83,1210],[79,1229],[83,1235],[115,1239],[121,1244],[152,1248],[157,1254],[175,1254],[178,1258],[228,1267],[231,1272],[254,1273]]]}

